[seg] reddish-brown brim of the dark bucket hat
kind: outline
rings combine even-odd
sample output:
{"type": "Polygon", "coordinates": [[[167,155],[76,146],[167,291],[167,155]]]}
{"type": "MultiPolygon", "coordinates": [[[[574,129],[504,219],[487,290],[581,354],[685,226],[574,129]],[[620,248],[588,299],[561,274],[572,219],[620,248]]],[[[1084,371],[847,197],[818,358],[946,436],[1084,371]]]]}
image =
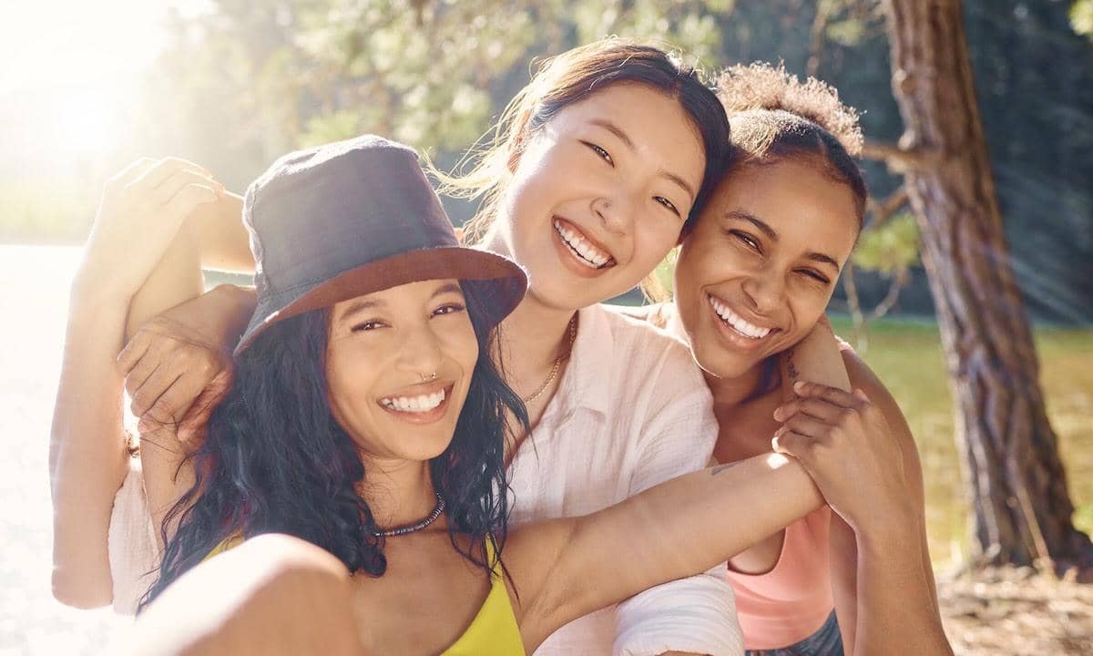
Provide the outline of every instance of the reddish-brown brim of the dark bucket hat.
{"type": "Polygon", "coordinates": [[[474,291],[491,326],[508,316],[527,291],[524,270],[498,255],[461,246],[408,250],[268,296],[255,308],[234,355],[277,321],[400,284],[446,278],[458,279],[474,291]]]}

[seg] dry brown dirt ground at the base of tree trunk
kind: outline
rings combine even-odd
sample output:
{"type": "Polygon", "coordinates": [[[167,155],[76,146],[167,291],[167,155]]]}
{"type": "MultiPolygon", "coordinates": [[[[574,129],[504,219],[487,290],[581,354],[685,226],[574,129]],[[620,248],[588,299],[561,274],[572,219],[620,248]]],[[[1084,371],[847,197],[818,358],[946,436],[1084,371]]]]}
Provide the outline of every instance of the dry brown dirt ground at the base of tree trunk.
{"type": "Polygon", "coordinates": [[[957,656],[1093,654],[1093,585],[1013,567],[941,576],[938,597],[957,656]]]}

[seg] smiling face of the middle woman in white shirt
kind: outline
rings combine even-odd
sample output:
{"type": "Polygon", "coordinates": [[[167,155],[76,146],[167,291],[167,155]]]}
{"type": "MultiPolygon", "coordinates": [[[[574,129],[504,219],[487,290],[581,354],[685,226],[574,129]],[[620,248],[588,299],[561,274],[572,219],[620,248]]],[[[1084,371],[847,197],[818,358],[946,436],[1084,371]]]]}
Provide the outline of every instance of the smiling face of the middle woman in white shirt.
{"type": "Polygon", "coordinates": [[[585,307],[632,289],[675,245],[704,171],[679,101],[613,84],[534,131],[494,238],[527,269],[529,296],[585,307]]]}

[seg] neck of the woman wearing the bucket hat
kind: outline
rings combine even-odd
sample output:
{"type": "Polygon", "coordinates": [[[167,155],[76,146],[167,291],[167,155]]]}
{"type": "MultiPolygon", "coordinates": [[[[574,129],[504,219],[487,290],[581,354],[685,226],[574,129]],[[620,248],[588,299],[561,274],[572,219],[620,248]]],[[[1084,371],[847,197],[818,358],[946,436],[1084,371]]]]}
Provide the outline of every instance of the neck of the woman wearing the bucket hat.
{"type": "Polygon", "coordinates": [[[357,492],[379,530],[421,522],[436,507],[428,462],[365,458],[367,482],[357,492]]]}

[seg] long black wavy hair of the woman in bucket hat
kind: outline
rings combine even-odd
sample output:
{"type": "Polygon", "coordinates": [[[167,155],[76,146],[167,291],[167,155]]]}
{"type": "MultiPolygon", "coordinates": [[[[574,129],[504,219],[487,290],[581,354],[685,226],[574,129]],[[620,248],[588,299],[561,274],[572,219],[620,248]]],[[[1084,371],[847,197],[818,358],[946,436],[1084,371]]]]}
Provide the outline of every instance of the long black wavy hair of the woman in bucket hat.
{"type": "MultiPolygon", "coordinates": [[[[483,319],[478,293],[463,286],[479,359],[451,443],[430,469],[447,503],[453,547],[491,571],[507,532],[506,412],[525,430],[528,415],[491,356],[494,329],[483,319]],[[494,559],[487,558],[487,536],[496,544],[494,559]]],[[[280,321],[239,354],[234,383],[213,411],[204,442],[189,456],[193,485],[161,527],[166,549],[160,576],[139,611],[236,537],[283,532],[329,551],[350,572],[386,571],[384,541],[357,493],[367,477],[360,447],[330,411],[329,315],[329,308],[316,309],[280,321]],[[168,540],[166,527],[176,519],[178,530],[168,540]]]]}

